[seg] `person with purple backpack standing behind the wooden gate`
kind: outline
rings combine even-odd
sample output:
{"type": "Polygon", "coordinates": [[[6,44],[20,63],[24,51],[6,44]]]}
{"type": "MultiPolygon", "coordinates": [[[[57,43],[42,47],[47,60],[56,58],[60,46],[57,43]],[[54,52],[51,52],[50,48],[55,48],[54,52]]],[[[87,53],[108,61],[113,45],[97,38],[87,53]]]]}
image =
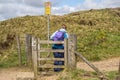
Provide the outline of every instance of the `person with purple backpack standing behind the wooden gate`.
{"type": "MultiPolygon", "coordinates": [[[[66,25],[62,25],[62,27],[55,31],[50,39],[53,41],[64,41],[64,39],[68,38],[68,33],[66,31],[67,27],[66,25]]],[[[64,49],[63,44],[53,44],[52,49],[64,49]]],[[[54,58],[64,58],[63,52],[53,52],[54,58]]],[[[54,61],[54,65],[64,65],[64,61],[54,61]]],[[[63,68],[54,68],[55,72],[59,72],[63,70],[63,68]]]]}

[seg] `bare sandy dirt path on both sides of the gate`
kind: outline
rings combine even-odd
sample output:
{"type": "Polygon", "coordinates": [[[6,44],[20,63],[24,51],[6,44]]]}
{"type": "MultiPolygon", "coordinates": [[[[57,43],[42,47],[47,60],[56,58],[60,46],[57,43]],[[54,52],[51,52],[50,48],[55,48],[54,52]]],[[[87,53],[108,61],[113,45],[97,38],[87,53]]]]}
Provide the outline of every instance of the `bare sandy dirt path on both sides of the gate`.
{"type": "MultiPolygon", "coordinates": [[[[114,71],[118,70],[119,58],[113,58],[105,61],[93,62],[93,64],[99,68],[101,71],[114,71]]],[[[86,71],[93,71],[87,64],[83,62],[77,63],[77,68],[84,69],[86,71]]],[[[16,77],[21,72],[31,72],[27,68],[9,68],[9,69],[0,69],[0,80],[16,80],[16,77]]],[[[33,73],[27,74],[33,76],[33,73]]],[[[40,80],[56,80],[58,75],[42,77],[40,80]]]]}

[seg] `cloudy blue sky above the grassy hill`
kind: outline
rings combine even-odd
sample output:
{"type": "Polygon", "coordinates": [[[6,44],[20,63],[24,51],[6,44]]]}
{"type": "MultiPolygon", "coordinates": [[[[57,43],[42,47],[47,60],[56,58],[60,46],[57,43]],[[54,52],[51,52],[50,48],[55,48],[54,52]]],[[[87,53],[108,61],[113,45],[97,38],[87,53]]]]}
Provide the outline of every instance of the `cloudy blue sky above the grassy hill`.
{"type": "Polygon", "coordinates": [[[51,2],[51,14],[120,7],[120,0],[0,0],[0,21],[19,16],[45,13],[45,2],[51,2]]]}

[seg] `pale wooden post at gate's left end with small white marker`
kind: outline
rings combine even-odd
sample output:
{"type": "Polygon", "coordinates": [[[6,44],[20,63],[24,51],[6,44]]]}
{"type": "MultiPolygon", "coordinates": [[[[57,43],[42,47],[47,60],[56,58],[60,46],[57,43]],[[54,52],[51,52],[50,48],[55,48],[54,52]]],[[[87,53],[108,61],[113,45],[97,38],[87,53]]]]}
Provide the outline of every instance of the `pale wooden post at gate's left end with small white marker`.
{"type": "Polygon", "coordinates": [[[38,74],[38,40],[35,37],[32,37],[32,59],[33,59],[33,68],[34,68],[34,77],[37,78],[38,74]]]}

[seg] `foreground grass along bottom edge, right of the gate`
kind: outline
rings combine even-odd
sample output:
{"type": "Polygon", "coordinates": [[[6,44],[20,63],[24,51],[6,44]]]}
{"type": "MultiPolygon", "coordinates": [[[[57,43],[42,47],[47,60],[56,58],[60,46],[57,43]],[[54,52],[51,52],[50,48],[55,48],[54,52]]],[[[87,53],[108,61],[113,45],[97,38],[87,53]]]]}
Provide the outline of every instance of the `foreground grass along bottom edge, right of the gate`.
{"type": "MultiPolygon", "coordinates": [[[[115,80],[118,75],[117,71],[105,72],[104,73],[108,80],[115,80]]],[[[97,77],[96,72],[87,72],[84,70],[71,70],[64,71],[60,74],[60,77],[57,80],[100,80],[97,77]]]]}

